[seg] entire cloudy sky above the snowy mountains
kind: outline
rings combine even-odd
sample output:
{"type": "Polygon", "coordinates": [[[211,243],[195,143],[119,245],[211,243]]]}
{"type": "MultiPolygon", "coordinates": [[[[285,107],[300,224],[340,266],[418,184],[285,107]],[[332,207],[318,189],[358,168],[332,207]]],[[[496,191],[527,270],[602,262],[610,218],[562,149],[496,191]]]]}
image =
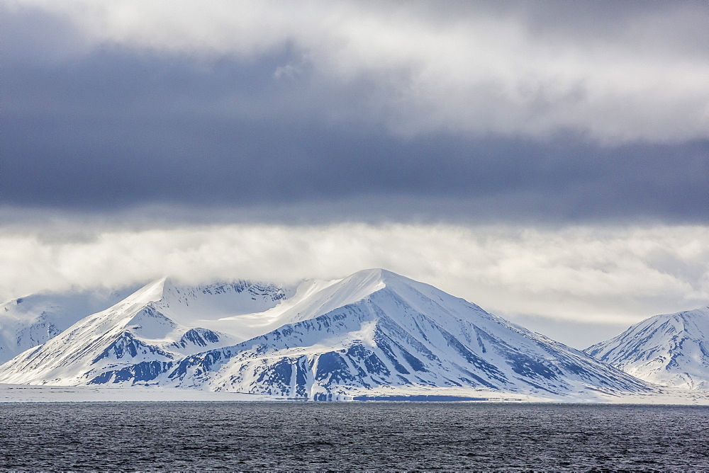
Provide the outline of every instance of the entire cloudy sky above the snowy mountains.
{"type": "Polygon", "coordinates": [[[709,4],[1,0],[0,298],[383,267],[585,348],[709,304],[709,4]]]}

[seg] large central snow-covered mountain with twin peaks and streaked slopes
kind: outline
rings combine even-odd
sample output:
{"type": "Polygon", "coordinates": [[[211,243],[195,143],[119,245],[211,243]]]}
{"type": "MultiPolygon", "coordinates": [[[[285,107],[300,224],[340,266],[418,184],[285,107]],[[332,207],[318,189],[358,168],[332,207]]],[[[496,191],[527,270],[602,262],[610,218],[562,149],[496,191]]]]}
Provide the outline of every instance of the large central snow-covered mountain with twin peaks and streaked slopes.
{"type": "Polygon", "coordinates": [[[0,366],[0,382],[157,384],[306,399],[442,388],[552,397],[652,390],[386,270],[295,288],[160,280],[0,366]]]}

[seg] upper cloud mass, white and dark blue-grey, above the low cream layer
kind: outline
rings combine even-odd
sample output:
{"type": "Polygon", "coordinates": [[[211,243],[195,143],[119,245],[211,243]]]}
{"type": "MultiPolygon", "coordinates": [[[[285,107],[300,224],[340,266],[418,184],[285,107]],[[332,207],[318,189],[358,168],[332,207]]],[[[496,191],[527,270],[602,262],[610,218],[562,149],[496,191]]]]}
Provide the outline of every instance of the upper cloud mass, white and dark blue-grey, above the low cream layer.
{"type": "Polygon", "coordinates": [[[6,1],[3,205],[706,222],[706,4],[406,5],[6,1]]]}

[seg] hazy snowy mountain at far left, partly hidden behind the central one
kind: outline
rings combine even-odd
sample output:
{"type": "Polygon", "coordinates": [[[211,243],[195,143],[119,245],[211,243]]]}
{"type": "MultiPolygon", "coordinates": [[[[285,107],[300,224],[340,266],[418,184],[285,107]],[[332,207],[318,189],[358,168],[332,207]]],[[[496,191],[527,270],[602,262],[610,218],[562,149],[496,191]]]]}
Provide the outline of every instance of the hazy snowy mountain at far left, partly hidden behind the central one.
{"type": "Polygon", "coordinates": [[[136,289],[45,292],[0,304],[0,363],[45,343],[74,322],[111,307],[136,289]]]}

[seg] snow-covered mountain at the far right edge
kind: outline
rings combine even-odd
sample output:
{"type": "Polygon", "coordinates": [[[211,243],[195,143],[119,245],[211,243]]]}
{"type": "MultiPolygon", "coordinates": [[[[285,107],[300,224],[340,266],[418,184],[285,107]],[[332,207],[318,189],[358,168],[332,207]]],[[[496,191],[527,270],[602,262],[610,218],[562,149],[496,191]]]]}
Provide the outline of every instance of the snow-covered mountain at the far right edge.
{"type": "Polygon", "coordinates": [[[709,389],[709,307],[650,317],[585,352],[642,380],[709,389]]]}

